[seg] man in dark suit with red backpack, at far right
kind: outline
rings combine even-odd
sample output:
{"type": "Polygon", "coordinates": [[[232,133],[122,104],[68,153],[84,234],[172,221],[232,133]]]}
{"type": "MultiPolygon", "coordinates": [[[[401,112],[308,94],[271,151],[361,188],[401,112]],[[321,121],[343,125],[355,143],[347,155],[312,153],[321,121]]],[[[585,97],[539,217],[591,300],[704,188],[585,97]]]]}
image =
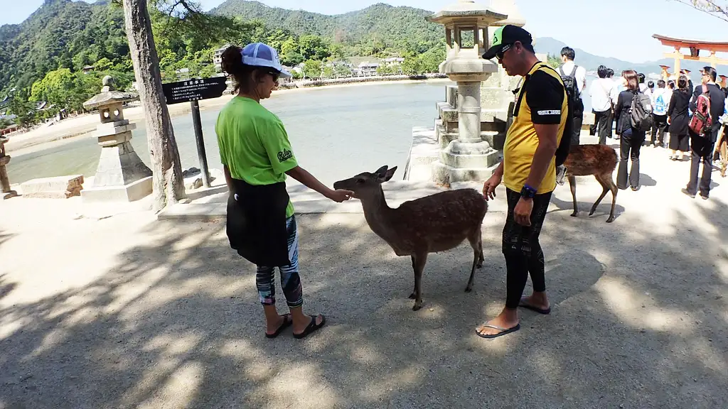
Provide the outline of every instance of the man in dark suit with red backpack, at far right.
{"type": "Polygon", "coordinates": [[[687,188],[682,189],[682,192],[690,197],[695,197],[698,189],[700,189],[700,197],[708,199],[711,191],[713,148],[715,147],[716,140],[718,140],[718,133],[721,129],[718,118],[723,115],[725,104],[725,95],[716,84],[717,76],[718,73],[715,68],[703,68],[703,85],[695,88],[692,100],[690,101],[690,110],[695,112],[697,110],[698,97],[707,91],[709,94],[708,98],[711,100],[711,118],[713,119],[711,130],[706,132],[705,135],[697,135],[688,129],[692,143],[692,162],[690,164],[690,181],[687,188]],[[700,177],[700,186],[698,186],[697,172],[700,170],[700,162],[703,162],[703,175],[700,177]]]}

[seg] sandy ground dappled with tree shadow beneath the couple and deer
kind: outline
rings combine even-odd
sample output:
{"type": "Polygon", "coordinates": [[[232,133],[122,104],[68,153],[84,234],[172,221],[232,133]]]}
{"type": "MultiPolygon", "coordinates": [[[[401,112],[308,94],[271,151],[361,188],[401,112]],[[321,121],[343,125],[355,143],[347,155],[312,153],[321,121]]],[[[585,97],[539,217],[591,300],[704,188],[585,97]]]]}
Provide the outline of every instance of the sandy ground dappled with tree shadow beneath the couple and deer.
{"type": "Polygon", "coordinates": [[[716,408],[727,211],[550,214],[553,313],[524,311],[521,331],[493,341],[474,329],[505,298],[502,213],[486,216],[475,291],[470,247],[431,255],[417,312],[409,258],[362,215],[299,216],[304,308],[329,318],[302,341],[264,338],[253,266],[222,222],[152,223],[99,279],[0,309],[0,407],[716,408]]]}

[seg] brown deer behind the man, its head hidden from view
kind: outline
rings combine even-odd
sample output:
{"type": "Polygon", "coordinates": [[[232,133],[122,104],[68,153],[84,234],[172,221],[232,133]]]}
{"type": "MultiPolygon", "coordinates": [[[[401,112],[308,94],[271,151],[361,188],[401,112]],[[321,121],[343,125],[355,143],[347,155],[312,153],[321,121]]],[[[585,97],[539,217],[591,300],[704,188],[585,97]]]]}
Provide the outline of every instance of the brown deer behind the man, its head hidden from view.
{"type": "Polygon", "coordinates": [[[589,215],[596,212],[596,207],[604,199],[606,192],[612,191],[612,212],[606,223],[614,221],[614,205],[617,204],[617,185],[614,184],[612,175],[617,167],[617,151],[611,146],[606,145],[574,145],[569,150],[569,156],[563,162],[566,166],[566,175],[569,177],[569,186],[571,187],[571,197],[574,199],[574,213],[571,217],[577,217],[579,210],[577,209],[577,178],[574,176],[594,175],[596,180],[604,188],[601,196],[592,206],[589,215]]]}

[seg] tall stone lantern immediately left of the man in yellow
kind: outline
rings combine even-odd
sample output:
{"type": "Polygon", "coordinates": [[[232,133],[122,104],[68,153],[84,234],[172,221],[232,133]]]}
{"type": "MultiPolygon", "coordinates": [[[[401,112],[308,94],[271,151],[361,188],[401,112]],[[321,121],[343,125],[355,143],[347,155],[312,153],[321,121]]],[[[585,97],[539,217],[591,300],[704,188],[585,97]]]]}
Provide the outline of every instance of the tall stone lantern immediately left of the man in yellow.
{"type": "Polygon", "coordinates": [[[458,138],[440,152],[432,164],[438,183],[489,178],[500,154],[481,137],[480,83],[498,71],[498,65],[481,57],[488,49],[488,25],[508,16],[471,0],[460,0],[427,17],[445,26],[446,60],[440,73],[457,83],[458,138]]]}

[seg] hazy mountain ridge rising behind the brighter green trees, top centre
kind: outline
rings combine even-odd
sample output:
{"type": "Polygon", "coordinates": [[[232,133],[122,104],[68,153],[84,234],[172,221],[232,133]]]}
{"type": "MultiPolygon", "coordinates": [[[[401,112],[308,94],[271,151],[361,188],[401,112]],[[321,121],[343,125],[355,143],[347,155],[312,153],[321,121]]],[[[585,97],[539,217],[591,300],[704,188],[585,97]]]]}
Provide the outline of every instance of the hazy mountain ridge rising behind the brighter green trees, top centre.
{"type": "Polygon", "coordinates": [[[425,20],[432,12],[382,3],[343,15],[322,15],[268,7],[258,1],[227,0],[210,13],[261,20],[270,28],[285,28],[299,36],[316,34],[336,41],[358,42],[376,36],[385,42],[436,43],[445,36],[441,25],[425,20]]]}

